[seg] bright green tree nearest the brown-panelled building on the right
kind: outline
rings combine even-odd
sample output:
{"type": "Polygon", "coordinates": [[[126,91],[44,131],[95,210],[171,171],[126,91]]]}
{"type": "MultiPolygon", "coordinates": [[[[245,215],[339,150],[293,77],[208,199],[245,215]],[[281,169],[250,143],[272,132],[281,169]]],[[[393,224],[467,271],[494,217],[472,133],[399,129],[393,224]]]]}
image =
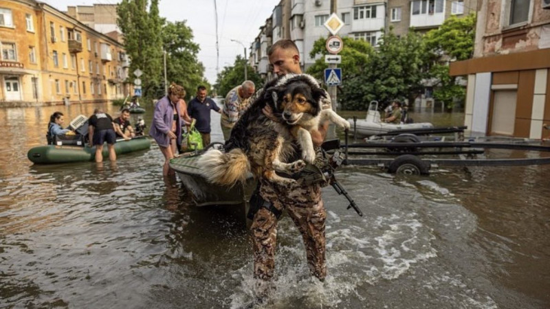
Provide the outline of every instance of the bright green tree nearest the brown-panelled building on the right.
{"type": "Polygon", "coordinates": [[[436,81],[434,99],[443,102],[448,110],[452,109],[454,102],[463,101],[466,94],[464,87],[458,84],[458,78],[449,76],[448,62],[472,57],[475,26],[475,14],[461,19],[452,16],[424,38],[430,52],[430,76],[436,81]]]}

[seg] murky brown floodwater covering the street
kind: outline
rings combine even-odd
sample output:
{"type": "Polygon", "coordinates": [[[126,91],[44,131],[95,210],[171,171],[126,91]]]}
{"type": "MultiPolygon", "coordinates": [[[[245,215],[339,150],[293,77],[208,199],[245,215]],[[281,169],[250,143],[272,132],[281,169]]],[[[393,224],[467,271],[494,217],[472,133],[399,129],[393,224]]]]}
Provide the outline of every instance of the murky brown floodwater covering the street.
{"type": "MultiPolygon", "coordinates": [[[[96,106],[0,109],[0,306],[242,308],[254,301],[241,221],[192,207],[151,150],[106,161],[32,165],[50,114],[96,106]]],[[[116,106],[105,106],[115,115],[116,106]]],[[[151,106],[144,115],[151,122],[151,106]]],[[[137,118],[137,117],[136,117],[137,118]]],[[[219,117],[212,114],[219,141],[219,117]]],[[[428,118],[428,119],[426,119],[428,118]]],[[[461,115],[417,115],[461,124],[461,115]],[[456,122],[455,122],[456,121],[456,122]]],[[[135,120],[135,118],[134,118],[135,120]]],[[[329,275],[309,277],[291,220],[278,229],[276,290],[265,308],[548,308],[550,167],[439,168],[392,176],[347,167],[323,197],[329,275]]]]}

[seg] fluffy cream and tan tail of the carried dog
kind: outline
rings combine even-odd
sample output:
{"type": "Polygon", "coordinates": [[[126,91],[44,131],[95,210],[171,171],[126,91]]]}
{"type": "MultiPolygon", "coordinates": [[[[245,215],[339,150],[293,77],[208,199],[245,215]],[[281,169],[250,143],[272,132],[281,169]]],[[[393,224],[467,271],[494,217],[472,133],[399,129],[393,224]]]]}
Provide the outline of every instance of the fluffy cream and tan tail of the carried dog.
{"type": "Polygon", "coordinates": [[[250,162],[243,150],[235,148],[230,152],[211,149],[201,155],[199,166],[203,176],[210,183],[233,186],[238,181],[245,181],[250,173],[250,162]]]}

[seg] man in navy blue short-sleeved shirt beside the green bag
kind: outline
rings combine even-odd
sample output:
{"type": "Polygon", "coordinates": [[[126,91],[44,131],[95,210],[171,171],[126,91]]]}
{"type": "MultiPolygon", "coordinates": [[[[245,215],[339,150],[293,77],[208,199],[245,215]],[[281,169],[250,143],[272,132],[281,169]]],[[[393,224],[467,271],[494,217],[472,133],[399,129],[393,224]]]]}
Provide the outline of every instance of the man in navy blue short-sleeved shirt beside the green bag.
{"type": "Polygon", "coordinates": [[[210,98],[206,98],[206,87],[199,86],[197,88],[197,96],[191,100],[187,106],[189,117],[197,119],[195,128],[201,133],[203,146],[210,144],[210,110],[221,113],[221,109],[216,102],[210,98]]]}

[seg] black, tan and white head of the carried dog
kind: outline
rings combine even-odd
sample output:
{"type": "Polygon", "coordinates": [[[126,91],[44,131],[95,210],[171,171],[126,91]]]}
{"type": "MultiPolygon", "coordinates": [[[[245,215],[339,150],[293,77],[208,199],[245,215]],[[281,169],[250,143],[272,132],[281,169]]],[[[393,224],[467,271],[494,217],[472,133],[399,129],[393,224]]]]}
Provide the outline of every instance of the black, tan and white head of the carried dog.
{"type": "Polygon", "coordinates": [[[290,125],[319,115],[326,93],[318,85],[303,78],[293,78],[284,84],[267,89],[265,99],[271,100],[274,114],[290,125]]]}

